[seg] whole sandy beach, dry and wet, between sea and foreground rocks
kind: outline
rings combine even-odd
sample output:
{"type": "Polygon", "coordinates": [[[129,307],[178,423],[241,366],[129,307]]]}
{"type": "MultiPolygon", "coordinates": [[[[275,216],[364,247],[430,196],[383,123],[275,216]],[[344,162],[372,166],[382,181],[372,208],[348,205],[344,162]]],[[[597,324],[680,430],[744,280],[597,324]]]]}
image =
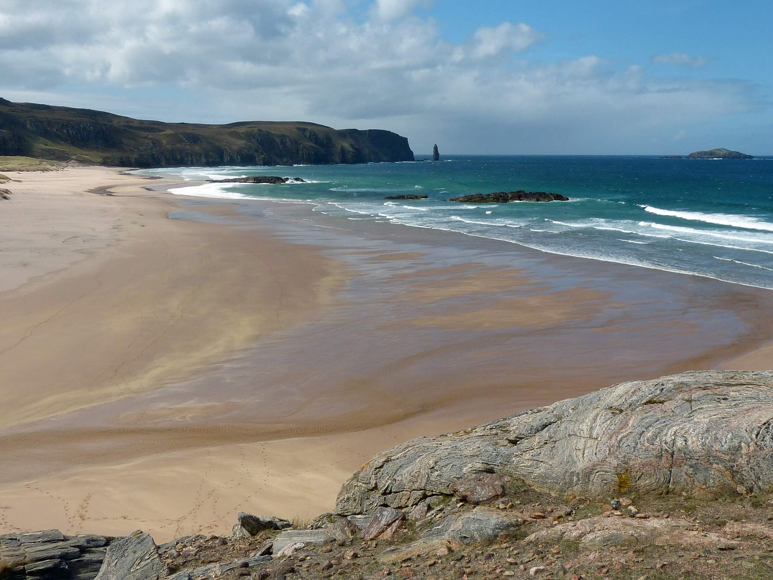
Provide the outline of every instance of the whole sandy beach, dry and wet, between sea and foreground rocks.
{"type": "Polygon", "coordinates": [[[165,541],[239,510],[312,517],[407,438],[773,358],[756,288],[342,229],[117,169],[9,176],[0,531],[165,541]]]}

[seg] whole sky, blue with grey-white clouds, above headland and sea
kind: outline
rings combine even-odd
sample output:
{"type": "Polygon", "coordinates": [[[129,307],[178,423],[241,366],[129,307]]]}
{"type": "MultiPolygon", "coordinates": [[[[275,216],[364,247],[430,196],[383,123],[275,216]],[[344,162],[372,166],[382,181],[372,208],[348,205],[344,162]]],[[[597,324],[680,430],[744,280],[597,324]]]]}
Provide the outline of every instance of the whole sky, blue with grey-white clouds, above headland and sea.
{"type": "Polygon", "coordinates": [[[418,154],[773,154],[770,0],[2,0],[0,97],[418,154]]]}

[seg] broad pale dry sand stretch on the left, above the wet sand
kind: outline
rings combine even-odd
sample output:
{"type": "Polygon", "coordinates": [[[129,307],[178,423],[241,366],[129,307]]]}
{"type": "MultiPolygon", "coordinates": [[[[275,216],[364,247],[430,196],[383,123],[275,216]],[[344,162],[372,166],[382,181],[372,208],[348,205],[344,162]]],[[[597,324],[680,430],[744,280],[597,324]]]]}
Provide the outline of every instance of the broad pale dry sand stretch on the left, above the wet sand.
{"type": "Polygon", "coordinates": [[[11,232],[3,278],[37,278],[0,300],[0,376],[12,385],[0,390],[2,428],[189,376],[321,309],[343,279],[308,248],[169,220],[170,196],[148,193],[136,176],[15,177],[22,183],[0,216],[11,232]],[[106,183],[116,195],[87,193],[106,183]]]}

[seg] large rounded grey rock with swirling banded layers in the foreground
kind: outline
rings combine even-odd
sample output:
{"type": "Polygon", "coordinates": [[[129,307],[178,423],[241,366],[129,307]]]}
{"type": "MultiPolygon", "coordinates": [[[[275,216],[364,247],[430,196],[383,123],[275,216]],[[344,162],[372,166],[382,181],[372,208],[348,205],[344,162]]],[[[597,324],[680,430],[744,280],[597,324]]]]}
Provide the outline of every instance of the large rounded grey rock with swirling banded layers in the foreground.
{"type": "Polygon", "coordinates": [[[381,452],[335,513],[416,506],[498,473],[557,495],[696,497],[773,489],[773,371],[703,371],[622,383],[381,452]]]}

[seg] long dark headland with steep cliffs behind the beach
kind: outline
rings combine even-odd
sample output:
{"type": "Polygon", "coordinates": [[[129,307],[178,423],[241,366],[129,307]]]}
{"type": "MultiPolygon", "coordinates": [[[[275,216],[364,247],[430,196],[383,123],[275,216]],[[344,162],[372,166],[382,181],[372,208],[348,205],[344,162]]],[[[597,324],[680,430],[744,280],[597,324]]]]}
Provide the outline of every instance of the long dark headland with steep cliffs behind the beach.
{"type": "Polygon", "coordinates": [[[0,155],[122,167],[414,161],[408,139],[305,122],[193,125],[0,98],[0,155]]]}

